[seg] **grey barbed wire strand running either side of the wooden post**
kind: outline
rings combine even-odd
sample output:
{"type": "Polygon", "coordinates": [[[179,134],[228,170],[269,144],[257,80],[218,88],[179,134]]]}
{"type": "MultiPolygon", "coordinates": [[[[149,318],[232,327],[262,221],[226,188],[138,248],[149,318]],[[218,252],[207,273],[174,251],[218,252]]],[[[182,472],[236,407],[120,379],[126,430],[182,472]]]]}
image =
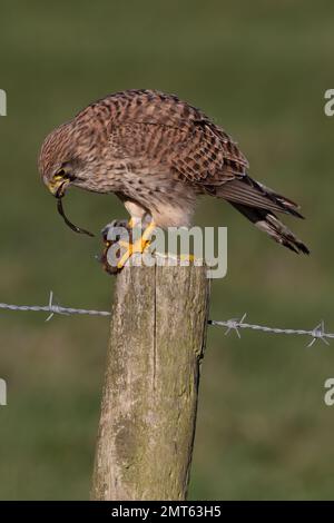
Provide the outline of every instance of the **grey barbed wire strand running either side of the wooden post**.
{"type": "MultiPolygon", "coordinates": [[[[86,309],[86,308],[73,308],[73,307],[62,307],[55,303],[53,300],[53,293],[50,292],[48,305],[11,305],[11,304],[1,304],[0,309],[8,309],[8,310],[31,310],[36,313],[50,313],[49,316],[46,318],[46,322],[49,322],[55,314],[66,315],[69,316],[71,314],[78,315],[89,315],[89,316],[110,316],[111,313],[108,310],[94,310],[94,309],[86,309]]],[[[334,338],[334,333],[326,333],[325,332],[325,324],[322,319],[316,327],[311,330],[306,330],[303,328],[281,328],[281,327],[268,327],[267,325],[256,325],[245,323],[246,313],[243,315],[242,318],[230,318],[226,320],[216,320],[209,319],[208,324],[218,327],[226,327],[225,336],[228,335],[230,332],[235,332],[238,338],[240,338],[239,329],[248,328],[252,330],[261,330],[264,333],[271,334],[286,334],[286,335],[302,335],[302,336],[311,336],[312,339],[307,344],[307,347],[312,347],[314,343],[321,339],[326,345],[330,345],[328,339],[334,338]]]]}

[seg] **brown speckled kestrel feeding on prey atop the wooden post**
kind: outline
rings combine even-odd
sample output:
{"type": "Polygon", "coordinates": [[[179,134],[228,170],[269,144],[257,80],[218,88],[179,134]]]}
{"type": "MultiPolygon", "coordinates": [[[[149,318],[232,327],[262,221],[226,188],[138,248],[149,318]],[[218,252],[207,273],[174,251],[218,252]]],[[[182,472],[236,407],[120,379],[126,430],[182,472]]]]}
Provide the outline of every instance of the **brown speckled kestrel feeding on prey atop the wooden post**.
{"type": "Polygon", "coordinates": [[[89,105],[46,138],[39,170],[58,203],[70,186],[114,193],[131,216],[130,227],[147,220],[141,241],[128,245],[119,268],[144,250],[156,227],[190,226],[202,195],[225,199],[278,244],[310,253],[276,216],[302,218],[299,207],[250,178],[230,136],[174,95],[126,90],[89,105]]]}

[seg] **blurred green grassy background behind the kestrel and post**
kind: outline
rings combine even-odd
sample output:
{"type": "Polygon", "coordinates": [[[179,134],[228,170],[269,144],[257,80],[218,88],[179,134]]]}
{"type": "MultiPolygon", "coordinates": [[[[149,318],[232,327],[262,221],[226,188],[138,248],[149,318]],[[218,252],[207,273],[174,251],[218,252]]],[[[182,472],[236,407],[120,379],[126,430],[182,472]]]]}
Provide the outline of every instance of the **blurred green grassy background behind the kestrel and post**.
{"type": "MultiPolygon", "coordinates": [[[[250,175],[295,198],[286,219],[310,258],[275,245],[228,205],[197,223],[228,226],[228,275],[210,317],[313,328],[333,318],[334,87],[331,1],[2,1],[0,300],[109,309],[100,240],[71,233],[41,185],[37,156],[53,127],[128,88],[175,92],[239,142],[250,175]]],[[[126,211],[114,196],[71,191],[69,216],[98,231],[126,211]]],[[[108,319],[1,312],[0,497],[88,499],[108,319]]],[[[193,500],[333,499],[333,344],[210,327],[190,482],[193,500]]]]}

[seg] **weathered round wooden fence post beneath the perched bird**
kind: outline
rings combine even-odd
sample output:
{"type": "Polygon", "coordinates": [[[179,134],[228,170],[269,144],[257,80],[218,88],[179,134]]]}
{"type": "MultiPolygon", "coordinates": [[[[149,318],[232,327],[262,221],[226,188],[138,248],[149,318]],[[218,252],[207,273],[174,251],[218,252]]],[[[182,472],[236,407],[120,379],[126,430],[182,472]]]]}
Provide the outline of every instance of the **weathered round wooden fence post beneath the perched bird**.
{"type": "Polygon", "coordinates": [[[117,277],[92,500],[185,500],[209,280],[205,267],[117,277]]]}

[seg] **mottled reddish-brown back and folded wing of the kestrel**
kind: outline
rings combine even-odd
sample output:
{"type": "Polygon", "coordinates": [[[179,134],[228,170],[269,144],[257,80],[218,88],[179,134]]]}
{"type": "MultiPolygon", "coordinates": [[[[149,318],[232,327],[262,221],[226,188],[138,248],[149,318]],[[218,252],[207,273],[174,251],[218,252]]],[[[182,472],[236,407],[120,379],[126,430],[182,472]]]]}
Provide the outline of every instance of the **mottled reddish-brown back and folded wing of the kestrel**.
{"type": "Polygon", "coordinates": [[[176,96],[151,90],[110,95],[79,115],[109,121],[112,155],[143,161],[147,168],[168,166],[178,179],[222,184],[248,166],[232,138],[199,109],[176,96]]]}

